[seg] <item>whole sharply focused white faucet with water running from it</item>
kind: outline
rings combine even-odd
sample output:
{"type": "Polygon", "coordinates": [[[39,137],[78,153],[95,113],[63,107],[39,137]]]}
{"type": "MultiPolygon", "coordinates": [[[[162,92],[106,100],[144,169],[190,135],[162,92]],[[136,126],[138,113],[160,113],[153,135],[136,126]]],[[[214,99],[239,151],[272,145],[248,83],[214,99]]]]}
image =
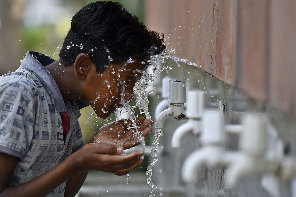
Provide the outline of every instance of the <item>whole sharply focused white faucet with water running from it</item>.
{"type": "Polygon", "coordinates": [[[168,91],[168,109],[161,112],[155,121],[155,128],[162,129],[163,123],[167,118],[174,120],[186,119],[184,103],[186,102],[185,82],[170,81],[168,91]]]}

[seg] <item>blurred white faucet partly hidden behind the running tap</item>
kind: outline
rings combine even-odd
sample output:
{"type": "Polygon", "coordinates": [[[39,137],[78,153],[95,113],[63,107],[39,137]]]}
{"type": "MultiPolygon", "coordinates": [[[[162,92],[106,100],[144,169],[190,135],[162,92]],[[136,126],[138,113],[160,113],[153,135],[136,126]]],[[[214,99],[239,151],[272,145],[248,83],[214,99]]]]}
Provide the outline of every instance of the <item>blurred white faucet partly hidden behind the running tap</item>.
{"type": "Polygon", "coordinates": [[[170,104],[168,103],[168,86],[170,81],[177,80],[176,77],[170,77],[165,76],[161,80],[161,97],[163,98],[162,101],[160,101],[157,106],[155,107],[155,117],[158,117],[158,115],[165,109],[168,109],[170,104]]]}

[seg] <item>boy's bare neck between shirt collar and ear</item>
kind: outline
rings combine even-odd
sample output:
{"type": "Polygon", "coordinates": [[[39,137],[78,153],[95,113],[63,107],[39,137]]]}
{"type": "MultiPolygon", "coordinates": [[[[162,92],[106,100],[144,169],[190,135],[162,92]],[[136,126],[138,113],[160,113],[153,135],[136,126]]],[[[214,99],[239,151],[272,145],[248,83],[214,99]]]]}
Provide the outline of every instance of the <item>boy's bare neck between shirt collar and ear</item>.
{"type": "Polygon", "coordinates": [[[76,86],[77,82],[75,81],[76,77],[72,66],[65,67],[58,59],[45,68],[57,83],[65,103],[71,99],[80,99],[79,93],[77,92],[79,88],[76,86]]]}

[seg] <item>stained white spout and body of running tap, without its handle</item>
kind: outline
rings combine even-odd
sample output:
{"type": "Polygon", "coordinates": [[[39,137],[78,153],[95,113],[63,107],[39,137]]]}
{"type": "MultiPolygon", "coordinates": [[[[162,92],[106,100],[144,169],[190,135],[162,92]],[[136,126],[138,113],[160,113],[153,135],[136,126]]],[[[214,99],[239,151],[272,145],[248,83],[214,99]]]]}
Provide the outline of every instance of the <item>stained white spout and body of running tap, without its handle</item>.
{"type": "Polygon", "coordinates": [[[178,104],[170,103],[169,108],[164,110],[158,115],[155,121],[155,128],[162,129],[164,121],[168,118],[171,118],[174,120],[186,119],[184,103],[178,103],[178,104]]]}

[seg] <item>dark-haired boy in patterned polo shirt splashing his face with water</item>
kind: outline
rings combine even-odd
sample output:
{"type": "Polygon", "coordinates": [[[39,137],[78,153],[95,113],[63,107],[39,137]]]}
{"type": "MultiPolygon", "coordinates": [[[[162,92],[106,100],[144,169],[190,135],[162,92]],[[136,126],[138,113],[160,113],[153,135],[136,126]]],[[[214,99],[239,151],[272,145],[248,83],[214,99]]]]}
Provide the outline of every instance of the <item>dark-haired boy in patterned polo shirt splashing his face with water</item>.
{"type": "Polygon", "coordinates": [[[73,16],[60,59],[28,51],[0,78],[0,196],[75,196],[88,170],[138,167],[141,151],[122,153],[152,120],[112,122],[83,145],[79,108],[90,104],[107,118],[132,99],[147,61],[164,48],[121,4],[96,1],[73,16]]]}

